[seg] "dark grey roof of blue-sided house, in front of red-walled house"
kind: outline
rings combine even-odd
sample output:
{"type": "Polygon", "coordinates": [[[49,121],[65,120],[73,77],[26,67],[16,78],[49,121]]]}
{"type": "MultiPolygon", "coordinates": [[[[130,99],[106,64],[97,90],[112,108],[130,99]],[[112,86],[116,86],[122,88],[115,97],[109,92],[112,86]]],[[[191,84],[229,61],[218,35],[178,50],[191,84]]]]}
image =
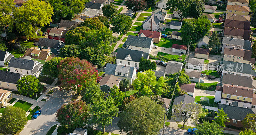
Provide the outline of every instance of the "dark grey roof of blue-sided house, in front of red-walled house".
{"type": "Polygon", "coordinates": [[[49,47],[49,48],[59,48],[59,45],[62,44],[63,42],[60,40],[56,39],[49,39],[49,38],[39,38],[39,41],[37,43],[37,46],[44,46],[44,47],[49,47]]]}

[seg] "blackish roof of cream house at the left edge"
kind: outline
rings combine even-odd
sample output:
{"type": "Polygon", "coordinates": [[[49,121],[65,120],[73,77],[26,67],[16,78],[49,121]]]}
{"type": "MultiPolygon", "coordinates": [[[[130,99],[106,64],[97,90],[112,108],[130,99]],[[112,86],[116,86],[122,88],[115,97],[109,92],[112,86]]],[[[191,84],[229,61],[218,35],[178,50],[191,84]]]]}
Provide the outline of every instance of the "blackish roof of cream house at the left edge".
{"type": "Polygon", "coordinates": [[[0,70],[0,81],[16,84],[22,74],[0,70]]]}

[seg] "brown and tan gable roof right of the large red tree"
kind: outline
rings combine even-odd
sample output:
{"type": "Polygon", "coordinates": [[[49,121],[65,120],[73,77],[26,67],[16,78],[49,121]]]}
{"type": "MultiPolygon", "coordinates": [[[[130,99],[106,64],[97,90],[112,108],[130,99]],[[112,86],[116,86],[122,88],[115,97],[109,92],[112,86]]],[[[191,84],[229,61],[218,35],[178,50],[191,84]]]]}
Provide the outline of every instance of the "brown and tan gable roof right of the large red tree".
{"type": "Polygon", "coordinates": [[[115,75],[107,75],[107,76],[104,76],[101,80],[100,80],[100,83],[99,85],[102,86],[102,85],[107,85],[109,86],[110,88],[113,88],[114,85],[118,85],[118,83],[120,82],[121,80],[119,78],[117,78],[115,75]]]}

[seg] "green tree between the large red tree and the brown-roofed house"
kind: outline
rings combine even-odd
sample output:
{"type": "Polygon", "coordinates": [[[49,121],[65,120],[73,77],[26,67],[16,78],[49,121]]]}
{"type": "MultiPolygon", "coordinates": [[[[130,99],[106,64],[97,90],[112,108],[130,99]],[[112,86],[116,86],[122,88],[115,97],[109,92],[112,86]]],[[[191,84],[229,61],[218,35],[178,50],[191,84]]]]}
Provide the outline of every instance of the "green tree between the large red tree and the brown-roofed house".
{"type": "Polygon", "coordinates": [[[104,92],[95,80],[90,81],[81,91],[82,100],[91,104],[93,99],[99,100],[104,98],[104,92]]]}

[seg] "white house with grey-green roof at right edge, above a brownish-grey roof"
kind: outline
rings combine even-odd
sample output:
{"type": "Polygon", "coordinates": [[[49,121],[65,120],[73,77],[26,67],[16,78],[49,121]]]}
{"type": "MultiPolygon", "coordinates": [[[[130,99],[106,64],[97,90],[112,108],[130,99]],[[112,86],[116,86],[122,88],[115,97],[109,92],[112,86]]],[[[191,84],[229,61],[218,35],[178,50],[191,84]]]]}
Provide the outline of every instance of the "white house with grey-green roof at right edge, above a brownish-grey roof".
{"type": "Polygon", "coordinates": [[[256,72],[255,70],[252,70],[251,64],[223,60],[223,62],[220,64],[220,69],[222,70],[221,75],[227,73],[241,76],[249,76],[253,78],[256,76],[256,72]]]}

